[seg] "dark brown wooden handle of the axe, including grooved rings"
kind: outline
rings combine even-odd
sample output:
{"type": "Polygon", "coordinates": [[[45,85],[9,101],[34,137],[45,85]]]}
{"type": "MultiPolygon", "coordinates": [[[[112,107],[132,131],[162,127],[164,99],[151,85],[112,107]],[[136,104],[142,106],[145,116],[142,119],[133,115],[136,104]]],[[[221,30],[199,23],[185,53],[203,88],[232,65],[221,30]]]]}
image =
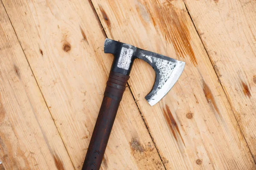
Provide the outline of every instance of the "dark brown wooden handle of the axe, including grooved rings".
{"type": "Polygon", "coordinates": [[[82,170],[99,170],[129,76],[111,71],[82,170]]]}

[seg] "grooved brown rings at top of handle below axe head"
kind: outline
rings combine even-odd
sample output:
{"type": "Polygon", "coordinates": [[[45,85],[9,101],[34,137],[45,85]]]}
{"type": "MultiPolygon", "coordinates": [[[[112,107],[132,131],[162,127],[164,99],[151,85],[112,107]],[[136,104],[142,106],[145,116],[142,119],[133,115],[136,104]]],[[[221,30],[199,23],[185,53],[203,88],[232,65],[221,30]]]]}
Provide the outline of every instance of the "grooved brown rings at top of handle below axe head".
{"type": "Polygon", "coordinates": [[[125,85],[130,77],[111,71],[108,77],[107,87],[104,96],[120,100],[125,91],[125,85]]]}

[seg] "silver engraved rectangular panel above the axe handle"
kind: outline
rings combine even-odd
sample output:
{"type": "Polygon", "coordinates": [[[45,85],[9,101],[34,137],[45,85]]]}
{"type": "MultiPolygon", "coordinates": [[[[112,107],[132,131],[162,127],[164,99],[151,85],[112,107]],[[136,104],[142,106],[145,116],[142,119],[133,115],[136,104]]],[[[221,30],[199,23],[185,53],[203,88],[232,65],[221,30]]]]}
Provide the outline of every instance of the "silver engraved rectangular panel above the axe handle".
{"type": "Polygon", "coordinates": [[[129,70],[131,65],[131,57],[134,53],[134,50],[131,48],[121,48],[120,57],[118,59],[117,67],[129,70]]]}

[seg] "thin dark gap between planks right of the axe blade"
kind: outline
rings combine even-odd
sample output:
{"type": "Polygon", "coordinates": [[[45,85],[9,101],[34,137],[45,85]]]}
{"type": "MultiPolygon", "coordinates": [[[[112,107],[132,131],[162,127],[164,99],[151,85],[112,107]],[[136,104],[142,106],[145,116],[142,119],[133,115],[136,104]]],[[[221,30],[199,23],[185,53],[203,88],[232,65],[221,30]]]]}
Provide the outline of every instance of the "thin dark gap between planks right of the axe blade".
{"type": "MultiPolygon", "coordinates": [[[[190,13],[189,13],[189,10],[188,10],[188,8],[187,8],[187,6],[186,6],[185,1],[183,1],[183,3],[184,3],[184,5],[185,5],[185,7],[186,7],[187,13],[189,14],[190,20],[192,21],[193,26],[195,27],[195,31],[196,31],[196,33],[198,34],[198,37],[200,38],[200,41],[202,42],[202,45],[204,46],[204,50],[206,51],[207,57],[209,58],[209,60],[210,60],[210,62],[211,62],[211,64],[212,64],[212,68],[213,68],[213,70],[214,70],[216,76],[218,77],[218,74],[217,74],[217,72],[216,72],[216,70],[215,70],[215,68],[214,68],[214,66],[213,66],[213,62],[212,62],[211,58],[209,57],[209,54],[208,54],[208,51],[207,51],[206,48],[205,48],[204,42],[202,41],[202,38],[201,38],[200,34],[198,33],[198,30],[197,30],[197,28],[196,28],[196,26],[195,26],[195,23],[194,23],[194,21],[192,20],[192,17],[191,17],[191,15],[190,15],[190,13]]],[[[243,138],[244,138],[244,141],[246,142],[246,145],[247,145],[248,149],[250,150],[250,147],[249,147],[249,145],[248,145],[248,143],[247,143],[247,141],[246,141],[246,139],[245,139],[245,137],[244,137],[244,133],[243,133],[243,131],[241,130],[240,124],[239,124],[239,122],[238,122],[238,120],[237,120],[237,118],[236,118],[236,115],[235,115],[234,111],[233,111],[233,107],[232,107],[232,105],[231,105],[231,103],[230,103],[230,100],[229,100],[228,97],[227,97],[226,91],[224,91],[223,85],[222,85],[222,83],[221,83],[219,77],[218,77],[218,81],[219,81],[219,83],[220,83],[220,85],[221,85],[221,88],[222,88],[222,90],[223,90],[223,92],[224,92],[226,98],[227,98],[227,101],[228,101],[228,103],[229,103],[229,105],[230,105],[231,111],[232,111],[232,113],[233,113],[233,115],[234,115],[234,117],[235,117],[235,119],[236,119],[236,122],[237,122],[237,124],[239,125],[239,130],[240,130],[240,132],[241,132],[241,134],[242,134],[242,136],[243,136],[243,138]]],[[[254,163],[256,164],[256,160],[254,159],[253,153],[252,153],[251,150],[250,150],[250,154],[251,154],[251,156],[252,156],[252,158],[253,158],[254,163]]]]}

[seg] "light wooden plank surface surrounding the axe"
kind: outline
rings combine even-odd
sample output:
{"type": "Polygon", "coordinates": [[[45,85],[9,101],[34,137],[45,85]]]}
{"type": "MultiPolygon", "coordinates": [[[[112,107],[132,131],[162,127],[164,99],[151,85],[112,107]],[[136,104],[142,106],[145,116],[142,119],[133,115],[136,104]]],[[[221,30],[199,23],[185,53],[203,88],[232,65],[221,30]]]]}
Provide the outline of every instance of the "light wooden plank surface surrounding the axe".
{"type": "Polygon", "coordinates": [[[102,170],[256,169],[255,6],[0,0],[0,168],[81,169],[113,59],[108,37],[186,66],[151,107],[154,70],[135,61],[102,170]]]}

